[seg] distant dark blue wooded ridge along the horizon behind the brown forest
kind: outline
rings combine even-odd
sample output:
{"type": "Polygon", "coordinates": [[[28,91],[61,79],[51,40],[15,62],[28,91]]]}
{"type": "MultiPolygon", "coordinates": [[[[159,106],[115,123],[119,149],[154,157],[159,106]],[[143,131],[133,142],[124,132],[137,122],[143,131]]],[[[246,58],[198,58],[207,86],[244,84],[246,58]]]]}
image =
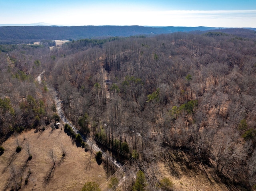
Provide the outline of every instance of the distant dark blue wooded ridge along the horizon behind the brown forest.
{"type": "MultiPolygon", "coordinates": [[[[42,23],[41,23],[42,24],[42,23]]],[[[114,36],[156,35],[173,32],[222,30],[214,27],[146,26],[1,26],[0,43],[27,43],[56,39],[94,39],[114,36]]],[[[256,28],[250,28],[256,30],[256,28]]]]}

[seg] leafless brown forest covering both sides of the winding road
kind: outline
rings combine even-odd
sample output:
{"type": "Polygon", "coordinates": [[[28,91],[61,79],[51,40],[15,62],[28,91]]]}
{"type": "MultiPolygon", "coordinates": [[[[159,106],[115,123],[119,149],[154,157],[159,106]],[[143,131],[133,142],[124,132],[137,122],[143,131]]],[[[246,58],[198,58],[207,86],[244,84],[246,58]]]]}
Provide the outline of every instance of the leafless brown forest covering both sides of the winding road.
{"type": "MultiPolygon", "coordinates": [[[[81,132],[122,163],[131,157],[139,162],[146,190],[159,190],[159,162],[175,177],[179,163],[230,190],[256,189],[256,32],[177,32],[83,39],[53,50],[45,44],[2,49],[2,141],[50,123],[56,113],[52,87],[81,132]],[[39,84],[35,78],[42,72],[39,84]]],[[[124,190],[134,190],[136,182],[127,178],[127,185],[124,190]]]]}

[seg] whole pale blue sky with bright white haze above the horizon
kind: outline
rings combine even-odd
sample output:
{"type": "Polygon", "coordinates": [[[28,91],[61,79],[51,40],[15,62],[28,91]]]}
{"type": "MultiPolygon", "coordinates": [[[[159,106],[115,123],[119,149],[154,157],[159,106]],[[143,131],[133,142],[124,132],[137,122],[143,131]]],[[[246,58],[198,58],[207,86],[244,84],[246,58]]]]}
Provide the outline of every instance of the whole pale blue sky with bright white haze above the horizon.
{"type": "Polygon", "coordinates": [[[0,0],[0,24],[256,28],[256,0],[0,0]]]}

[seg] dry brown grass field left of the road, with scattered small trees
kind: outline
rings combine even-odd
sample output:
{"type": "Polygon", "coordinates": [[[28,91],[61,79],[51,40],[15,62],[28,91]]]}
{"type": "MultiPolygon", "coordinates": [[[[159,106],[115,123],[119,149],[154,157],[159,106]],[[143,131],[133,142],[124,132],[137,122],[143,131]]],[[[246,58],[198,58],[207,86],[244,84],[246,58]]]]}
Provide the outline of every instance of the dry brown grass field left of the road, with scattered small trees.
{"type": "Polygon", "coordinates": [[[16,182],[22,191],[79,191],[87,181],[96,181],[99,185],[106,181],[104,164],[98,165],[93,154],[91,165],[88,165],[90,151],[77,147],[63,129],[30,130],[6,140],[2,144],[5,151],[0,156],[0,190],[9,191],[16,182]],[[16,153],[17,140],[22,146],[19,153],[16,153]],[[28,160],[27,145],[32,154],[31,160],[28,160]],[[52,177],[46,181],[54,164],[51,150],[56,165],[52,177]]]}

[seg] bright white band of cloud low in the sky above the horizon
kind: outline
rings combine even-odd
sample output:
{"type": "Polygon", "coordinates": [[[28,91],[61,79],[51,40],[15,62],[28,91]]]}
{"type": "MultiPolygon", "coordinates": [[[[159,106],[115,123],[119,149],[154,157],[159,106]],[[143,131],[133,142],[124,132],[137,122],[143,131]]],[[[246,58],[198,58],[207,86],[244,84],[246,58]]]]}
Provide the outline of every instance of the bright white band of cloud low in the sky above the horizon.
{"type": "MultiPolygon", "coordinates": [[[[8,23],[18,23],[7,18],[8,23]]],[[[22,18],[22,17],[20,17],[22,18]]],[[[16,20],[16,22],[14,21],[16,20]]],[[[106,8],[59,10],[28,16],[19,23],[45,22],[64,26],[82,25],[141,25],[141,26],[210,26],[210,27],[253,27],[256,28],[256,10],[169,10],[145,11],[106,8]]]]}

